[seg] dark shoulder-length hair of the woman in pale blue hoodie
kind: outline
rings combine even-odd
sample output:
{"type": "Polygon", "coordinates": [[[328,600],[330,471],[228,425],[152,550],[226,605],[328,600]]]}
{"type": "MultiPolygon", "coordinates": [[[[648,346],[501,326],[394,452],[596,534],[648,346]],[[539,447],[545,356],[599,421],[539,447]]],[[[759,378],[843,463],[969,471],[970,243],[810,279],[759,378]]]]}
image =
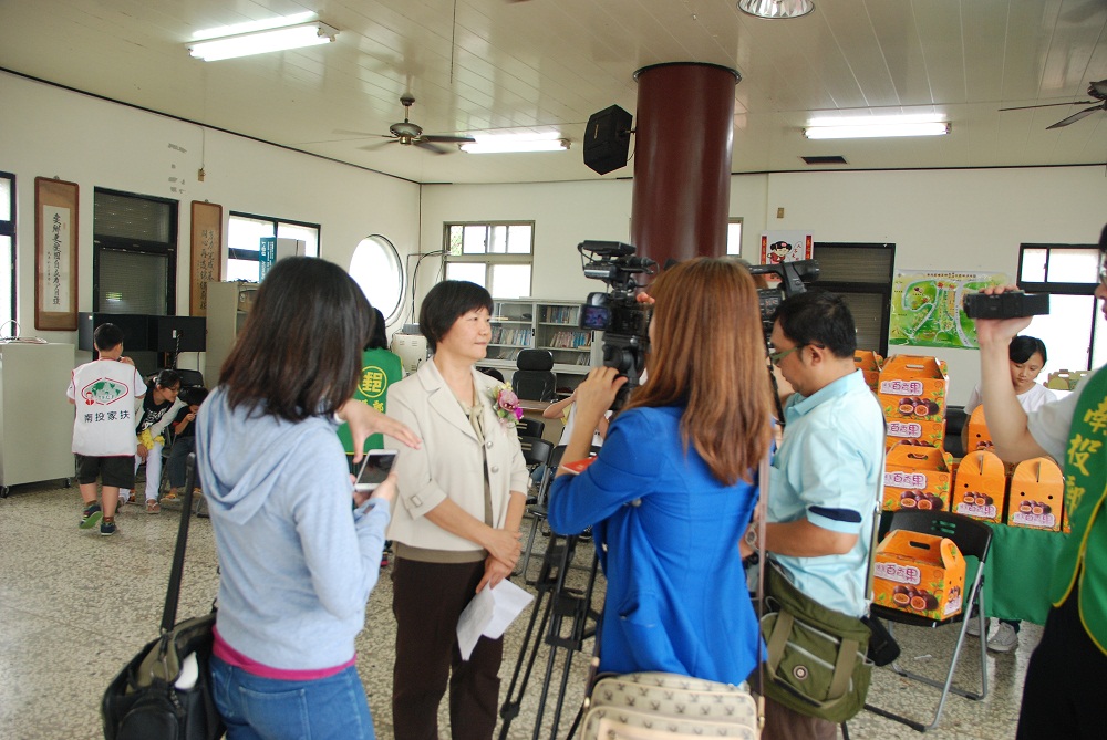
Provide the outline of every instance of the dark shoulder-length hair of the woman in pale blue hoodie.
{"type": "Polygon", "coordinates": [[[289,421],[333,414],[353,395],[373,321],[342,268],[313,257],[280,260],[219,372],[227,403],[289,421]]]}

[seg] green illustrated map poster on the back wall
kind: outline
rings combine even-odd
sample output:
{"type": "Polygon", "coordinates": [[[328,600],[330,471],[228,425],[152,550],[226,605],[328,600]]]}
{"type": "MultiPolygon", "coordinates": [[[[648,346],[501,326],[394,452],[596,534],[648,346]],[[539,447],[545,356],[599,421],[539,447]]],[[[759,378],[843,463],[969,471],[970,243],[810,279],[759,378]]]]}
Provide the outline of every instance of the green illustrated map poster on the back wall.
{"type": "Polygon", "coordinates": [[[989,285],[1005,285],[997,272],[901,272],[892,282],[888,344],[976,348],[976,326],[961,301],[989,285]]]}

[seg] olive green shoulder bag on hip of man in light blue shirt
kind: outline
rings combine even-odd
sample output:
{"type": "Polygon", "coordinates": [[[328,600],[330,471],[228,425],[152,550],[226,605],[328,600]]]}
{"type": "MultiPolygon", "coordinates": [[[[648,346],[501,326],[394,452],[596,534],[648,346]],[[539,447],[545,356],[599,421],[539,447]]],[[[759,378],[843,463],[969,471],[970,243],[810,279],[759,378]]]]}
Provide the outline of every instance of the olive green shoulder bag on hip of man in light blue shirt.
{"type": "Polygon", "coordinates": [[[766,564],[761,624],[768,654],[766,697],[836,725],[861,711],[872,674],[863,622],[811,601],[766,564]]]}

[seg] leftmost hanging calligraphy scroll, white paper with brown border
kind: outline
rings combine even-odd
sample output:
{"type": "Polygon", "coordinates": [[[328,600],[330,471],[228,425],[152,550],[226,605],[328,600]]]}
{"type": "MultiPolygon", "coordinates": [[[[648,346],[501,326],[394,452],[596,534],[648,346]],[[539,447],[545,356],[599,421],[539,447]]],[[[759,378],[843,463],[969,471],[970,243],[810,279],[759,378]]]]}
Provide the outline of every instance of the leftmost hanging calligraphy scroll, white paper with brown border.
{"type": "Polygon", "coordinates": [[[34,178],[34,327],[76,330],[77,185],[34,178]]]}

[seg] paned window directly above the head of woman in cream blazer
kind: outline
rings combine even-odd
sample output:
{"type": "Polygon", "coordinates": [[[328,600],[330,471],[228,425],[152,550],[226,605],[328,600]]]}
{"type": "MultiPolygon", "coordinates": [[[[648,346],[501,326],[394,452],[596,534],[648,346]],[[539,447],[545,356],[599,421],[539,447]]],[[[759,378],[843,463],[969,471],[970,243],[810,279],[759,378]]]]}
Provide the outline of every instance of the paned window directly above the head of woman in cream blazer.
{"type": "Polygon", "coordinates": [[[534,221],[446,223],[446,280],[484,285],[493,298],[530,295],[534,221]]]}

